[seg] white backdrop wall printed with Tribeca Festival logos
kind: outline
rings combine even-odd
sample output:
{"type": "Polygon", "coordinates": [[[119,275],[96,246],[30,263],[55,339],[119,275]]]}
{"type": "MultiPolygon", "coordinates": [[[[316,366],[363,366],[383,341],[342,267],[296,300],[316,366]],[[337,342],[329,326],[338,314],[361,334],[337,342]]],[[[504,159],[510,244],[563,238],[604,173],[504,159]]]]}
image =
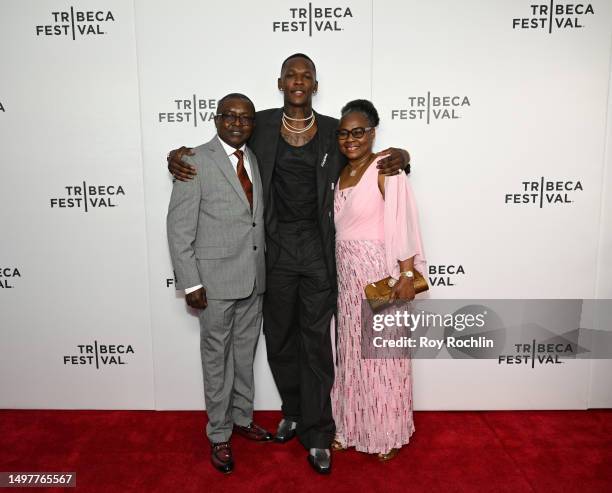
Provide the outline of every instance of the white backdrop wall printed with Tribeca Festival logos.
{"type": "MultiPolygon", "coordinates": [[[[0,407],[202,409],[174,288],[169,149],[216,100],[355,98],[403,147],[431,298],[612,298],[612,2],[2,0],[0,407]]],[[[258,409],[278,409],[263,338],[258,409]]],[[[612,406],[612,362],[416,360],[416,409],[612,406]]]]}

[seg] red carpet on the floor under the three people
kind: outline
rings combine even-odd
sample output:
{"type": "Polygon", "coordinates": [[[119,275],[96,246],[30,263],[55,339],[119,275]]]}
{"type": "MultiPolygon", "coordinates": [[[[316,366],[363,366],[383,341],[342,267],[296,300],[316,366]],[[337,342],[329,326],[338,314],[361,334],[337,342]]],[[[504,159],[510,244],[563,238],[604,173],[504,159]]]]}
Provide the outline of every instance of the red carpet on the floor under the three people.
{"type": "MultiPolygon", "coordinates": [[[[416,412],[397,458],[338,452],[331,476],[311,471],[296,440],[242,437],[224,476],[210,465],[204,416],[0,411],[0,471],[76,471],[82,492],[612,491],[612,410],[416,412]]],[[[272,430],[279,416],[258,412],[256,421],[272,430]]]]}

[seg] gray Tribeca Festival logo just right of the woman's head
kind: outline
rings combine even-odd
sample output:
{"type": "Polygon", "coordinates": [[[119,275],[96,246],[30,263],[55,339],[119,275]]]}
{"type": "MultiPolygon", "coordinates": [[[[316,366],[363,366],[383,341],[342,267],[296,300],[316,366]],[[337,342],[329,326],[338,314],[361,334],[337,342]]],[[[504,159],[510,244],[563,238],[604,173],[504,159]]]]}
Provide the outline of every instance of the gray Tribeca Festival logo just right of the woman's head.
{"type": "Polygon", "coordinates": [[[425,120],[427,125],[436,120],[457,120],[472,104],[467,96],[435,96],[427,91],[426,96],[408,97],[405,108],[391,110],[392,120],[425,120]]]}

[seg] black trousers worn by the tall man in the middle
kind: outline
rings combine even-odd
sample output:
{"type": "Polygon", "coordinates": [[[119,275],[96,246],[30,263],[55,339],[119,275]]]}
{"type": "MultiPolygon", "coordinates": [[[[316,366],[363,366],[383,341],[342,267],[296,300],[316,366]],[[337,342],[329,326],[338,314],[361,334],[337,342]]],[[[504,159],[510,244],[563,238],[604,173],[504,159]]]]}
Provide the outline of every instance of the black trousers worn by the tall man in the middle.
{"type": "Polygon", "coordinates": [[[334,438],[330,322],[336,304],[316,224],[280,225],[283,248],[266,279],[263,316],[268,362],[283,416],[297,421],[307,449],[334,438]]]}

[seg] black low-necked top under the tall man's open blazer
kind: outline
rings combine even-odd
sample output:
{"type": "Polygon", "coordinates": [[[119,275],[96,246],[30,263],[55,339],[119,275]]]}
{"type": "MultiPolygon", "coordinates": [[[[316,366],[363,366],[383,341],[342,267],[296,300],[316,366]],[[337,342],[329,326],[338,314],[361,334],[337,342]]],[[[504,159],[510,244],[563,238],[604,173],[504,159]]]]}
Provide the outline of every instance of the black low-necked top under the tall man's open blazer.
{"type": "Polygon", "coordinates": [[[278,139],[272,186],[281,223],[317,222],[317,142],[318,133],[301,147],[278,139]]]}

